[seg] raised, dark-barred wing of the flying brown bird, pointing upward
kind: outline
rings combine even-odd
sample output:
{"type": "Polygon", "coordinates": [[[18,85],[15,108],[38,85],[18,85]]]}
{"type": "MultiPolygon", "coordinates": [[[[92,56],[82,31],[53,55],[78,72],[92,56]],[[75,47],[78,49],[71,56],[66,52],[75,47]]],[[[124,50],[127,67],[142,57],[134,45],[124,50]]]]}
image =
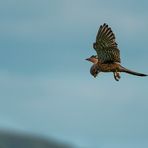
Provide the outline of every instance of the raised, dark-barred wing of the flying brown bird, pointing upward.
{"type": "Polygon", "coordinates": [[[120,51],[115,42],[115,35],[107,24],[100,26],[93,48],[102,63],[120,62],[120,51]]]}

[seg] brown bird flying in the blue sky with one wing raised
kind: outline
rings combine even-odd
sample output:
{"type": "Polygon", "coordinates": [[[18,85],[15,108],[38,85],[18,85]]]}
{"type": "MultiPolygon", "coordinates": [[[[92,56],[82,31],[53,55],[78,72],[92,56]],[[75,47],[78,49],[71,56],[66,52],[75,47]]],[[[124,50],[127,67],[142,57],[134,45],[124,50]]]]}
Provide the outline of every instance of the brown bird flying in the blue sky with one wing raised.
{"type": "Polygon", "coordinates": [[[101,25],[96,36],[96,42],[93,43],[97,55],[92,55],[86,59],[93,63],[90,68],[91,75],[96,77],[99,72],[113,72],[116,81],[120,79],[120,72],[136,76],[148,76],[123,67],[120,64],[120,50],[117,45],[112,29],[106,23],[101,25]]]}

